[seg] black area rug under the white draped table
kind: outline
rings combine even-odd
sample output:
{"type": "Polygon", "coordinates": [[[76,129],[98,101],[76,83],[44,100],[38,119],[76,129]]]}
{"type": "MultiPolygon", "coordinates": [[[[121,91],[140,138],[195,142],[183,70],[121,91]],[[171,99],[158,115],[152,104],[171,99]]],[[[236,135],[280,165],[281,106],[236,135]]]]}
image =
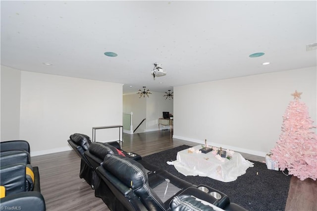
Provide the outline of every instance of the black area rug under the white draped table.
{"type": "Polygon", "coordinates": [[[286,176],[281,171],[268,170],[265,163],[252,160],[250,161],[254,163],[254,167],[248,168],[245,174],[233,182],[221,182],[201,176],[184,176],[166,161],[175,160],[178,151],[188,148],[190,146],[182,145],[142,159],[192,184],[204,184],[217,189],[226,194],[232,203],[249,211],[285,210],[291,176],[286,176]]]}

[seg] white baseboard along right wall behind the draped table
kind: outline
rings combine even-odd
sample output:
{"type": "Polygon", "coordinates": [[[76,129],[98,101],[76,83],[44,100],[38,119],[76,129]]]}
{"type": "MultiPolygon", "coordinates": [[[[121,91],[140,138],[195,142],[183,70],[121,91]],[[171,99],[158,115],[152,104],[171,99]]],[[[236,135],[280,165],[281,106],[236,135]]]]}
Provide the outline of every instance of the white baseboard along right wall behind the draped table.
{"type": "MultiPolygon", "coordinates": [[[[191,138],[182,137],[182,136],[173,135],[173,138],[181,139],[181,140],[185,140],[185,141],[190,141],[190,142],[195,142],[195,143],[198,143],[198,144],[205,144],[205,142],[203,140],[191,139],[191,138]]],[[[267,153],[267,152],[261,152],[261,151],[255,151],[255,150],[249,150],[249,149],[234,147],[234,146],[230,146],[230,145],[223,145],[223,144],[214,143],[214,142],[207,142],[207,144],[211,145],[211,146],[215,146],[215,147],[222,147],[224,149],[229,149],[229,150],[233,150],[233,151],[236,151],[236,152],[247,153],[247,154],[250,154],[250,155],[255,155],[255,156],[260,156],[260,157],[265,157],[265,155],[267,153]]]]}

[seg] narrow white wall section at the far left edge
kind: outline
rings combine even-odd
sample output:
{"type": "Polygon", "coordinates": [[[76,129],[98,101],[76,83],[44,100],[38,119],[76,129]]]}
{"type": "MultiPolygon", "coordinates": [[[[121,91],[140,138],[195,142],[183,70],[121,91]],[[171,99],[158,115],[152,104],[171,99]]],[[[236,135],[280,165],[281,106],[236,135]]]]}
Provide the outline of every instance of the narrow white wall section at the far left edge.
{"type": "Polygon", "coordinates": [[[20,136],[21,71],[1,66],[1,141],[20,136]]]}

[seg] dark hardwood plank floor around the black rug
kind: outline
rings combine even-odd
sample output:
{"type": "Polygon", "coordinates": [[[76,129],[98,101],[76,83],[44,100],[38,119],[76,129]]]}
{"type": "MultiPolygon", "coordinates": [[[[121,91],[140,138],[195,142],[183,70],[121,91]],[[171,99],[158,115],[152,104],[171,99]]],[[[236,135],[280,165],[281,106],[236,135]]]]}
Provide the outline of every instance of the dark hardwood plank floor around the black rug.
{"type": "MultiPolygon", "coordinates": [[[[88,134],[90,135],[90,134],[88,134]]],[[[65,142],[68,137],[65,137],[65,142]]],[[[169,130],[124,134],[122,149],[141,156],[151,155],[181,145],[197,143],[173,139],[169,130]]],[[[242,154],[244,158],[264,161],[264,158],[242,154]]],[[[109,211],[94,190],[79,178],[80,158],[70,150],[31,158],[33,166],[39,166],[41,192],[47,211],[109,211]]],[[[278,187],[276,187],[278,188],[278,187]]],[[[317,181],[300,181],[291,178],[285,211],[317,211],[317,181]]]]}

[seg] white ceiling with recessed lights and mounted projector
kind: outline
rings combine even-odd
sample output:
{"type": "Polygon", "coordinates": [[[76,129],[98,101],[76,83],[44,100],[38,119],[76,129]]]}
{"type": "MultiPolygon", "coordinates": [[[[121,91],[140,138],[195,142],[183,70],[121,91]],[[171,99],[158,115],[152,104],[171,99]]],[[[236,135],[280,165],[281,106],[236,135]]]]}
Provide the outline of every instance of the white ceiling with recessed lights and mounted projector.
{"type": "Polygon", "coordinates": [[[317,65],[316,50],[306,51],[317,42],[316,0],[1,0],[0,6],[2,65],[122,83],[124,93],[317,65]],[[265,54],[249,57],[258,52],[265,54]],[[166,76],[154,80],[154,62],[166,76]]]}

